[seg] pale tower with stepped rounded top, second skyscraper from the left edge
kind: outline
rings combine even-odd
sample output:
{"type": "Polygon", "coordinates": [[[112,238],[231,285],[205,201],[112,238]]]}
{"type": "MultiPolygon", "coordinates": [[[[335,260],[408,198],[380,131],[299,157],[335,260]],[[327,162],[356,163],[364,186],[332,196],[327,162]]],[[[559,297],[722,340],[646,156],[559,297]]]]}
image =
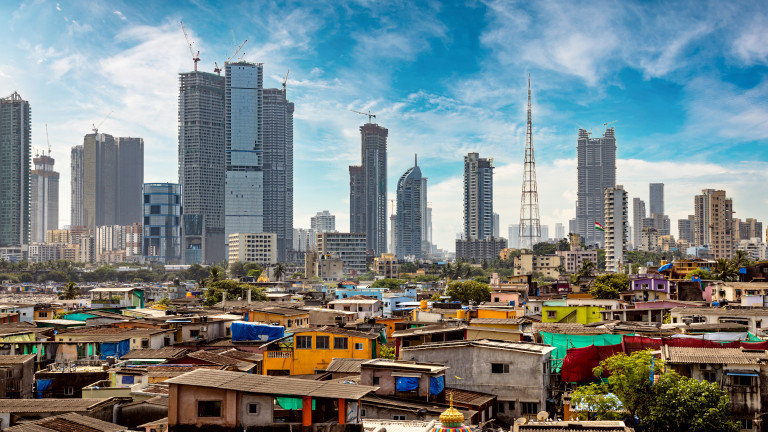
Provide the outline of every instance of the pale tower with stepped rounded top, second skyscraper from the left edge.
{"type": "Polygon", "coordinates": [[[45,154],[32,159],[35,169],[30,172],[32,233],[34,243],[45,242],[45,232],[59,228],[59,173],[53,170],[54,160],[45,154]]]}

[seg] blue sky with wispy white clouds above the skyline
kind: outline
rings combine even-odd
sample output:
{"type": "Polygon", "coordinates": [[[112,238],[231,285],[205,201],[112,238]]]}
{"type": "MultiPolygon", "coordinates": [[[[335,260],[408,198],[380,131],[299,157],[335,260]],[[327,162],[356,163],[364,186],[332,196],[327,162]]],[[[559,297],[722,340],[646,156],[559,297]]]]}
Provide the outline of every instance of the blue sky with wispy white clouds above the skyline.
{"type": "MultiPolygon", "coordinates": [[[[736,217],[768,222],[768,6],[740,2],[25,1],[0,3],[0,94],[48,124],[69,223],[69,150],[101,131],[145,139],[146,181],[178,181],[179,72],[192,68],[183,19],[213,70],[248,39],[265,86],[290,68],[295,226],[328,209],[348,227],[347,166],[371,110],[389,128],[389,191],[419,154],[434,238],[461,231],[462,157],[493,157],[502,235],[519,219],[526,78],[543,224],[576,200],[577,125],[616,121],[618,182],[647,200],[664,182],[673,221],[724,188],[736,217]],[[231,31],[230,31],[231,29],[231,31]]],[[[676,222],[673,222],[676,234],[676,222]]]]}

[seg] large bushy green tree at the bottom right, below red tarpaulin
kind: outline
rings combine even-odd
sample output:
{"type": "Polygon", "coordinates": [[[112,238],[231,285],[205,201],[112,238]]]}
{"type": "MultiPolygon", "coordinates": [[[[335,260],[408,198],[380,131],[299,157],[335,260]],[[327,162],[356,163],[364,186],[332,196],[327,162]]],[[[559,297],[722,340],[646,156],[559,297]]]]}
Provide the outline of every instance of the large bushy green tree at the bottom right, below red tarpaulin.
{"type": "Polygon", "coordinates": [[[650,350],[616,354],[594,369],[600,382],[577,388],[571,401],[588,407],[579,413],[582,418],[623,418],[649,432],[738,430],[729,418],[728,395],[717,384],[663,370],[650,350]],[[655,383],[651,371],[659,375],[655,383]]]}

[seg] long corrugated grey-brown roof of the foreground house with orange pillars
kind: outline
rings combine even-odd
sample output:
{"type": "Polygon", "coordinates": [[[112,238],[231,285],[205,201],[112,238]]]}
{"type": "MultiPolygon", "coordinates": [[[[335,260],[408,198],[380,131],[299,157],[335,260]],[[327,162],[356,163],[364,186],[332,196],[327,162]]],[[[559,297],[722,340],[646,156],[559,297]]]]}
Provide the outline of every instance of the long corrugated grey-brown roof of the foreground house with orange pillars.
{"type": "Polygon", "coordinates": [[[168,384],[212,387],[246,393],[313,396],[332,399],[360,399],[378,387],[311,381],[297,378],[199,369],[171,378],[168,384]]]}

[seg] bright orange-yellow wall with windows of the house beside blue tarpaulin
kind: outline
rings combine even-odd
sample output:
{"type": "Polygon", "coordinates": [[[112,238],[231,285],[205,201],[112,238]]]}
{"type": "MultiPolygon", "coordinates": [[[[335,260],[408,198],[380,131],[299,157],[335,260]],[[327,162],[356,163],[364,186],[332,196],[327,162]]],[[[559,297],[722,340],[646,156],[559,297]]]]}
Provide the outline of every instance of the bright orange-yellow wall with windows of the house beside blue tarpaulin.
{"type": "Polygon", "coordinates": [[[267,351],[264,353],[264,375],[269,375],[270,370],[288,370],[291,375],[313,374],[317,369],[325,369],[334,358],[373,358],[372,351],[376,349],[376,340],[324,332],[298,332],[294,334],[293,340],[292,351],[267,351]],[[312,336],[312,348],[297,349],[295,342],[297,336],[312,336]],[[317,349],[317,336],[328,336],[328,349],[317,349]],[[333,339],[338,337],[347,338],[347,349],[333,348],[333,339]],[[356,343],[363,344],[362,349],[355,349],[356,343]],[[372,344],[373,348],[371,347],[372,344]],[[289,357],[287,353],[290,353],[289,357]]]}

